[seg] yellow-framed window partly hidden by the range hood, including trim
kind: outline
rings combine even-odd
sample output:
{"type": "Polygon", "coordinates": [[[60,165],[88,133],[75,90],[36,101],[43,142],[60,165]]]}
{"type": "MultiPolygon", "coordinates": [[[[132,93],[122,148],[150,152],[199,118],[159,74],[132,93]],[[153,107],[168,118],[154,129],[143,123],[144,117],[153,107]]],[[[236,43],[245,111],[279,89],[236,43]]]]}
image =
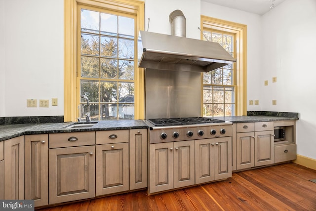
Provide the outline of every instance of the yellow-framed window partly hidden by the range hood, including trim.
{"type": "Polygon", "coordinates": [[[204,117],[246,115],[246,25],[201,16],[201,39],[218,42],[237,62],[203,73],[204,117]]]}

